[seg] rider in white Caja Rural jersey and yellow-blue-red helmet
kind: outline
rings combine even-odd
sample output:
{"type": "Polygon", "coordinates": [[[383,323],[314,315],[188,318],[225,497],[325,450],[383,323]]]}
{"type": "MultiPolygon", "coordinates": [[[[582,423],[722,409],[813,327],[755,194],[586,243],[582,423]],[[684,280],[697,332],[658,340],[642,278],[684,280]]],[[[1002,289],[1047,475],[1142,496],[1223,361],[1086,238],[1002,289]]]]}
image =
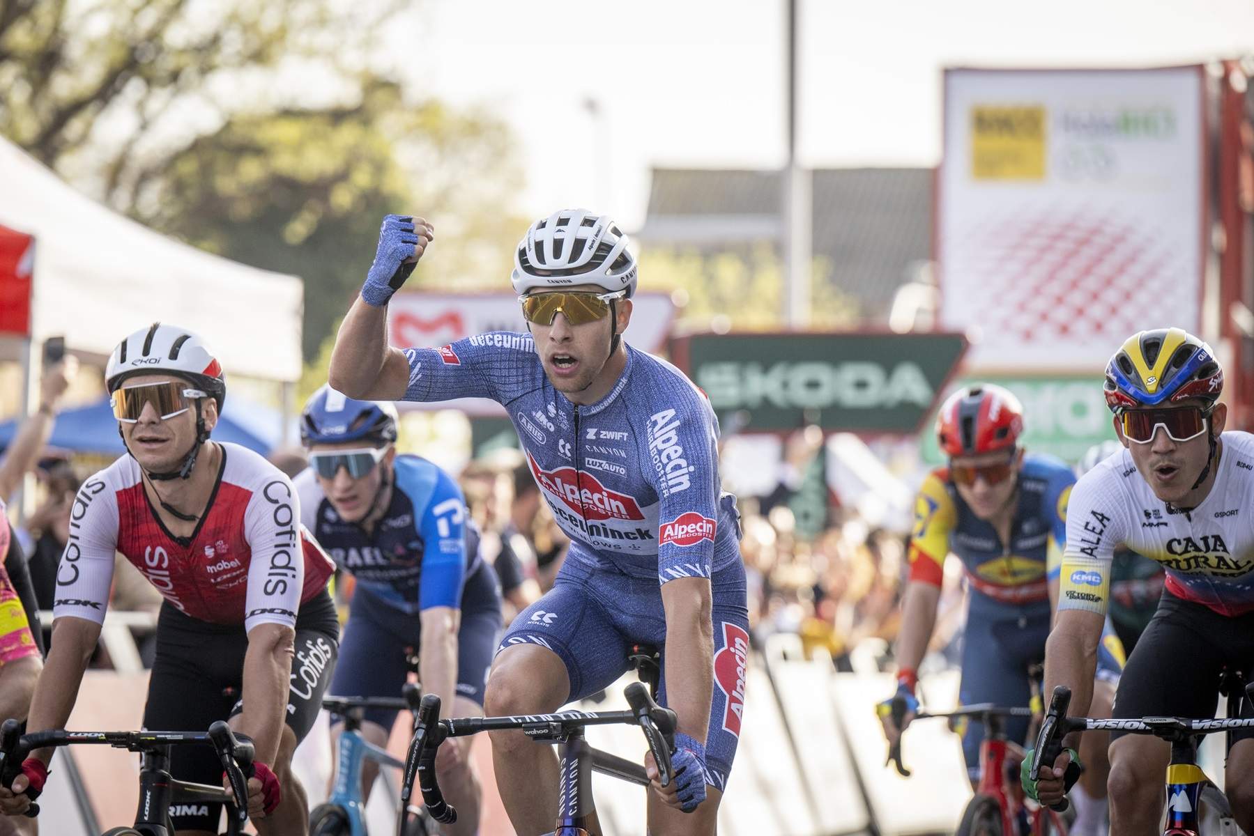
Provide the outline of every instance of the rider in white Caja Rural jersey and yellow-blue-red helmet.
{"type": "MultiPolygon", "coordinates": [[[[1214,717],[1221,672],[1254,669],[1254,436],[1224,431],[1223,387],[1211,347],[1180,328],[1132,335],[1106,366],[1106,404],[1124,449],[1071,491],[1045,657],[1046,686],[1072,689],[1072,714],[1088,709],[1119,546],[1162,564],[1166,583],[1120,677],[1115,719],[1214,717]]],[[[1254,716],[1248,698],[1241,714],[1254,716]]],[[[1159,832],[1170,747],[1112,732],[1109,753],[1111,833],[1159,832]]],[[[1041,766],[1042,802],[1061,800],[1070,758],[1065,751],[1041,766]]],[[[1229,734],[1224,791],[1250,832],[1254,729],[1229,734]]]]}

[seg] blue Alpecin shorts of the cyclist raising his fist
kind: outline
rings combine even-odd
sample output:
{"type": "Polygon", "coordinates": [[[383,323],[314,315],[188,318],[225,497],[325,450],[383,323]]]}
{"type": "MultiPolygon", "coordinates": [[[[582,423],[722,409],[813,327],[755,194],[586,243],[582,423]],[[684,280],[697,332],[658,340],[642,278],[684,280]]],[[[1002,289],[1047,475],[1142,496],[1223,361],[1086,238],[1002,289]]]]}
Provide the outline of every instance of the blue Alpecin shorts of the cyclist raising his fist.
{"type": "MultiPolygon", "coordinates": [[[[745,567],[735,560],[710,579],[714,598],[714,698],[706,736],[706,782],[722,791],[740,742],[749,657],[745,567]]],[[[656,578],[567,560],[543,598],[519,613],[500,648],[539,644],[558,654],[571,681],[567,702],[613,684],[632,644],[662,649],[658,702],[666,704],[666,613],[656,578]]]]}

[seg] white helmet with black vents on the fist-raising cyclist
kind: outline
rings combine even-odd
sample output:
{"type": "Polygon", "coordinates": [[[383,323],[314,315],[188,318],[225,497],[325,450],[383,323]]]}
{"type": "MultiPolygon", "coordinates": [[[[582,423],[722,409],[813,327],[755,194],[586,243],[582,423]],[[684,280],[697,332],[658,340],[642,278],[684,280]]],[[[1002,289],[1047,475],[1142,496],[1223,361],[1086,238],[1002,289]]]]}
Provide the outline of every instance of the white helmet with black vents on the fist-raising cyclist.
{"type": "Polygon", "coordinates": [[[514,252],[510,281],[519,296],[533,290],[596,285],[636,292],[636,258],[613,221],[587,209],[563,209],[533,223],[514,252]]]}

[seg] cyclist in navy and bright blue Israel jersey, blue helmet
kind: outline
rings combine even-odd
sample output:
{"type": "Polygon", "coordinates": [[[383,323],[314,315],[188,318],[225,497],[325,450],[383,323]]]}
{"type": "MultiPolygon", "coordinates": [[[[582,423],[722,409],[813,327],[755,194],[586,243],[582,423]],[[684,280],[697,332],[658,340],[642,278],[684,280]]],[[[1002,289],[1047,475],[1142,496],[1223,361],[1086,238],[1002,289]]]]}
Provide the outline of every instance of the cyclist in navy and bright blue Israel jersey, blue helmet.
{"type": "MultiPolygon", "coordinates": [[[[492,567],[479,559],[461,490],[426,459],[396,455],[391,404],[324,386],[305,406],[301,440],[310,451],[308,470],[293,483],[302,523],[356,579],[331,693],[399,696],[409,657],[420,651],[423,689],[458,717],[482,716],[500,594],[492,567]]],[[[386,746],[395,722],[395,711],[369,708],[361,732],[386,746]]],[[[332,750],[341,731],[339,722],[331,727],[332,750]]],[[[448,832],[472,835],[482,793],[470,738],[460,742],[441,747],[436,770],[459,811],[448,832]]],[[[362,763],[362,797],[377,771],[362,763]]]]}

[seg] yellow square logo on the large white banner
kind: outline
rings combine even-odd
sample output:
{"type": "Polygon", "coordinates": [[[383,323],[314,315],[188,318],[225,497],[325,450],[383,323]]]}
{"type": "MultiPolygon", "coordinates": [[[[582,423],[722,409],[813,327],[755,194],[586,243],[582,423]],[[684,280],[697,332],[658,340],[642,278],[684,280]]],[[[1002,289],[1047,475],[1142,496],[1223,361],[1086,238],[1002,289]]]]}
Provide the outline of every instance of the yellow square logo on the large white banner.
{"type": "Polygon", "coordinates": [[[1043,180],[1045,107],[973,107],[971,175],[977,180],[1043,180]]]}

